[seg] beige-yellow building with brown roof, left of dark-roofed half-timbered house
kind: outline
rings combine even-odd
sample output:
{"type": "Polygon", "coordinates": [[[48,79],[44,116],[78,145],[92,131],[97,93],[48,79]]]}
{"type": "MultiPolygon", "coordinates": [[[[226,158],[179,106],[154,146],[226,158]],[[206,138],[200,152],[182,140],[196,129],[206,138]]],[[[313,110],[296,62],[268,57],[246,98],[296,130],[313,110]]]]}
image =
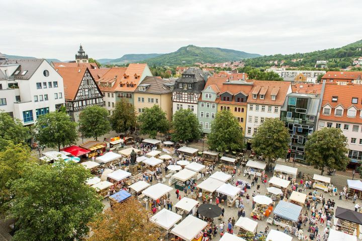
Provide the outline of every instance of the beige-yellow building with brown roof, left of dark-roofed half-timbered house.
{"type": "Polygon", "coordinates": [[[147,76],[134,91],[134,108],[136,113],[142,113],[144,108],[158,105],[166,112],[169,121],[172,120],[172,90],[174,81],[154,76],[147,76]]]}

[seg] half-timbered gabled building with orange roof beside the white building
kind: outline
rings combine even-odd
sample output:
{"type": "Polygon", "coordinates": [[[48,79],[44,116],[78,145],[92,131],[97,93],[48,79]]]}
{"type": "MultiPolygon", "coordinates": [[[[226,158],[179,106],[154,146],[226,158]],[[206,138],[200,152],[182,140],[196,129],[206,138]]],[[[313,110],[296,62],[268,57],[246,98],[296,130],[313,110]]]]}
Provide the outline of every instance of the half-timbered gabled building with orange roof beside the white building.
{"type": "Polygon", "coordinates": [[[88,106],[103,106],[103,95],[87,67],[58,67],[63,77],[67,111],[78,121],[80,111],[88,106]]]}

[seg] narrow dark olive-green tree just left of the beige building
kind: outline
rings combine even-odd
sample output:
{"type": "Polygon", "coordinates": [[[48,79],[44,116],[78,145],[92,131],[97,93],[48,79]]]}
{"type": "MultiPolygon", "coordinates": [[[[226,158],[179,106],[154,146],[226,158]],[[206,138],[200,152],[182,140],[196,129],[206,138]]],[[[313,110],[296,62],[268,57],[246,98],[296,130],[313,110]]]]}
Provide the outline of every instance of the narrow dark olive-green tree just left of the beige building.
{"type": "Polygon", "coordinates": [[[116,103],[113,114],[110,117],[112,129],[117,133],[126,132],[136,126],[136,114],[133,105],[121,99],[116,103]]]}

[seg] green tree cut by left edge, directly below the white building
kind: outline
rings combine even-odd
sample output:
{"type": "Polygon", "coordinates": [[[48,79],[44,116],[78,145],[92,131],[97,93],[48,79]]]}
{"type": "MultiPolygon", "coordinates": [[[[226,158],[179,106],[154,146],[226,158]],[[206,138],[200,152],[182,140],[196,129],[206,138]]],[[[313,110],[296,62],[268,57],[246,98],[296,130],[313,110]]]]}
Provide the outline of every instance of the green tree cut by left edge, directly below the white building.
{"type": "Polygon", "coordinates": [[[24,127],[21,120],[0,111],[0,150],[4,150],[9,143],[24,144],[29,138],[30,129],[24,127]]]}

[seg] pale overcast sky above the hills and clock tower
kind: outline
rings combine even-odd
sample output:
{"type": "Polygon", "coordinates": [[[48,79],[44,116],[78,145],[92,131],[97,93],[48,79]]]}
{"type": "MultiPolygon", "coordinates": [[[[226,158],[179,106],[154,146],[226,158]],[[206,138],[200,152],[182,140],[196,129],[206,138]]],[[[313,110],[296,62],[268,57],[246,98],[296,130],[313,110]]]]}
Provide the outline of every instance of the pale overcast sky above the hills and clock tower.
{"type": "Polygon", "coordinates": [[[361,0],[2,1],[0,52],[73,60],[168,53],[189,44],[262,55],[362,39],[361,0]]]}

